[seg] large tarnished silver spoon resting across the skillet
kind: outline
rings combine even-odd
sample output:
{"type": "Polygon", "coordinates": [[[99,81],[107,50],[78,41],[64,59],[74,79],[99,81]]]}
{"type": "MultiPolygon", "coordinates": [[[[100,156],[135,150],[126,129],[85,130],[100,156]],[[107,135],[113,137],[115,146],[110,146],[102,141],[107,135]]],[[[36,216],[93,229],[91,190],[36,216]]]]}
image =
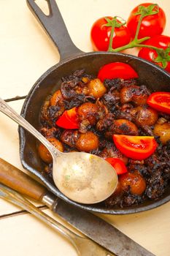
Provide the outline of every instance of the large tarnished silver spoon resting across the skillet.
{"type": "Polygon", "coordinates": [[[84,152],[62,153],[0,98],[0,111],[31,132],[53,157],[53,180],[58,189],[78,203],[98,203],[117,187],[115,169],[101,157],[84,152]]]}

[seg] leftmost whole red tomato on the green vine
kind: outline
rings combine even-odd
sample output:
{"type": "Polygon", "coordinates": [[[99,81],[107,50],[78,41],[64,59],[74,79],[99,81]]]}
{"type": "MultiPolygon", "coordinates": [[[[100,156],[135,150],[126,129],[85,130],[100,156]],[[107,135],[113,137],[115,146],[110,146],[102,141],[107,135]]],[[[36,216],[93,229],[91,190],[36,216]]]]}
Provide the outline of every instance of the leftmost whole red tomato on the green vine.
{"type": "MultiPolygon", "coordinates": [[[[107,20],[105,18],[112,20],[112,17],[99,18],[95,23],[93,23],[91,28],[90,39],[93,45],[93,50],[108,50],[109,48],[109,37],[112,28],[110,26],[104,26],[107,24],[107,20]]],[[[115,28],[112,48],[118,48],[120,46],[126,45],[130,41],[131,34],[126,26],[115,28]]]]}

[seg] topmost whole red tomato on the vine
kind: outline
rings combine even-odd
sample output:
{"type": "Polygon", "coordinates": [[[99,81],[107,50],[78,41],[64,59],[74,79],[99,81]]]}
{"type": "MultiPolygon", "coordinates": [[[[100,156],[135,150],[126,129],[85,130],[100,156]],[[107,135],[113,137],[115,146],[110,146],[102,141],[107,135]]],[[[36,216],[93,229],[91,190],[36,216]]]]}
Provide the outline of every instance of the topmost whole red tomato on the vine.
{"type": "MultiPolygon", "coordinates": [[[[134,15],[139,10],[139,6],[148,7],[151,3],[139,4],[134,10],[131,11],[128,17],[127,27],[131,32],[131,36],[134,37],[136,34],[137,24],[139,22],[140,15],[134,15]]],[[[159,12],[154,15],[149,15],[143,18],[141,27],[139,29],[139,37],[153,37],[156,34],[162,34],[163,29],[166,26],[166,15],[165,12],[159,7],[159,12]]]]}

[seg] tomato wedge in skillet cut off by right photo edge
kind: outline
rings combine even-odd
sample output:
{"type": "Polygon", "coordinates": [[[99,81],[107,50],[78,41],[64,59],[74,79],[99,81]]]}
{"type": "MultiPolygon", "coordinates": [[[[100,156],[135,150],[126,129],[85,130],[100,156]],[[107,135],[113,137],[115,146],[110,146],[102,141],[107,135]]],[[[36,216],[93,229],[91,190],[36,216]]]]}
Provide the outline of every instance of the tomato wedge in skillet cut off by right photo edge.
{"type": "Polygon", "coordinates": [[[147,104],[156,110],[170,114],[170,92],[157,91],[150,94],[147,104]]]}

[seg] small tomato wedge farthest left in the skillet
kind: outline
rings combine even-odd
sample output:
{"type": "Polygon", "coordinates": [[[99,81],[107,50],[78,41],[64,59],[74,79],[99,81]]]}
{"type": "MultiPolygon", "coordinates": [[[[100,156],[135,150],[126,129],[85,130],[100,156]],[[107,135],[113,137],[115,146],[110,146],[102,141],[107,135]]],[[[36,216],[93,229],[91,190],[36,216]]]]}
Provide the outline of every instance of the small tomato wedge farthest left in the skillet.
{"type": "Polygon", "coordinates": [[[65,110],[60,118],[55,122],[58,127],[65,129],[79,129],[79,123],[77,118],[77,108],[71,108],[65,110]]]}

